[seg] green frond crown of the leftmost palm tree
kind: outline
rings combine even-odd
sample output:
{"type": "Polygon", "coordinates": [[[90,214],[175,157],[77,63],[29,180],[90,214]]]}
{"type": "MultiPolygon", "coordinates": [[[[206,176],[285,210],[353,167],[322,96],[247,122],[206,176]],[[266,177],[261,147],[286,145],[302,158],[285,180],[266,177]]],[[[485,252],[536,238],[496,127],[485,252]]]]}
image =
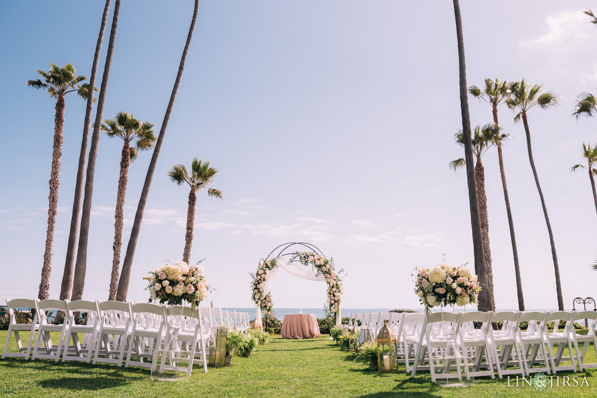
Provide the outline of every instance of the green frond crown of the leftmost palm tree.
{"type": "MultiPolygon", "coordinates": [[[[51,98],[58,98],[59,95],[76,91],[81,98],[87,99],[87,95],[89,94],[89,84],[84,83],[79,85],[79,83],[87,80],[87,78],[83,75],[76,75],[75,67],[72,66],[70,62],[64,67],[56,66],[51,63],[50,72],[44,72],[43,70],[38,69],[37,73],[44,78],[44,81],[41,81],[41,79],[27,80],[27,86],[37,89],[43,88],[48,91],[51,98]]],[[[97,91],[97,87],[94,88],[94,90],[97,91]]],[[[94,101],[96,101],[95,98],[94,101]]]]}

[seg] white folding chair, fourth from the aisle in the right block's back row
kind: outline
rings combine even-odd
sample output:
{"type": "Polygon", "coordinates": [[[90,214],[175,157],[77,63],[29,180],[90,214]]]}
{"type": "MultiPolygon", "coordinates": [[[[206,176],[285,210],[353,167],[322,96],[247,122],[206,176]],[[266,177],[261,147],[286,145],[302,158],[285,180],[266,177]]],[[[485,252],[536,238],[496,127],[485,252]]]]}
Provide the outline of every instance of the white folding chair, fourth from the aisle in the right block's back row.
{"type": "Polygon", "coordinates": [[[518,327],[518,344],[521,346],[527,376],[535,372],[547,372],[551,374],[549,362],[547,362],[547,352],[545,350],[545,329],[548,311],[545,312],[524,312],[521,313],[519,325],[521,322],[528,322],[527,332],[523,333],[518,327]],[[543,363],[544,366],[534,368],[536,363],[543,363]]]}

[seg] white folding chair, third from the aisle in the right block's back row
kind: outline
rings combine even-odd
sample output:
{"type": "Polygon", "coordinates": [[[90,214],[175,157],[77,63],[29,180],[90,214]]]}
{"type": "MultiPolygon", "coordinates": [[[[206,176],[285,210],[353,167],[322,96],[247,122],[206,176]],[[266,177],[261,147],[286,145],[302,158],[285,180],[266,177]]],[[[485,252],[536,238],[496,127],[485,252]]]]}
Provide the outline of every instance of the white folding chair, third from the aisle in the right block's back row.
{"type": "Polygon", "coordinates": [[[518,311],[499,311],[491,316],[491,322],[503,322],[503,327],[499,331],[489,328],[492,359],[500,379],[504,375],[520,374],[524,376],[525,374],[521,347],[516,340],[520,316],[521,313],[518,311]],[[500,347],[499,350],[498,347],[500,347]],[[517,369],[507,369],[508,366],[516,365],[518,365],[517,369]]]}

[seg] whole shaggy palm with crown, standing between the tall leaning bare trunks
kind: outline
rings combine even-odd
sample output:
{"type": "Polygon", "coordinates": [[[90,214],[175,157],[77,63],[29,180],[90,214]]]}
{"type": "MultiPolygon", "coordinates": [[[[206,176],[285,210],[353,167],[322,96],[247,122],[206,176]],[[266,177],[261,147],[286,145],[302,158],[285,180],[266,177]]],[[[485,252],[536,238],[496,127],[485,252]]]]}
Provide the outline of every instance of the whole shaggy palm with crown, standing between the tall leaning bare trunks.
{"type": "Polygon", "coordinates": [[[120,161],[120,178],[118,178],[118,194],[116,194],[116,211],[114,213],[114,244],[112,249],[112,277],[110,277],[110,294],[108,300],[116,299],[118,288],[118,269],[120,268],[120,249],[122,247],[122,227],[124,226],[124,202],[127,196],[128,166],[137,159],[138,151],[152,149],[155,145],[155,135],[150,122],[141,123],[125,112],[118,112],[115,119],[106,119],[101,129],[108,137],[121,138],[124,141],[120,161]],[[135,143],[132,147],[131,143],[135,143]]]}

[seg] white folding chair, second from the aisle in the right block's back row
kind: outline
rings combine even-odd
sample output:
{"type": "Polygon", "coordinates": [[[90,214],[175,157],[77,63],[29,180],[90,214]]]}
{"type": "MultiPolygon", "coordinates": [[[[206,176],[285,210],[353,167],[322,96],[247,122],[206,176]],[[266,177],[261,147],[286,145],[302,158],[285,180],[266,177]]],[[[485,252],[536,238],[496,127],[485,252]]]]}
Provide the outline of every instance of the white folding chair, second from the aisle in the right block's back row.
{"type": "Polygon", "coordinates": [[[461,323],[469,323],[469,328],[466,331],[463,331],[462,327],[460,328],[458,336],[460,337],[463,350],[469,350],[469,356],[473,357],[474,365],[471,373],[473,377],[491,376],[492,379],[496,378],[491,359],[490,329],[492,316],[492,311],[472,311],[460,316],[461,323]],[[481,328],[475,329],[473,322],[482,322],[481,328]],[[485,360],[485,363],[483,360],[485,360]],[[482,371],[482,367],[488,368],[488,370],[482,371]]]}

